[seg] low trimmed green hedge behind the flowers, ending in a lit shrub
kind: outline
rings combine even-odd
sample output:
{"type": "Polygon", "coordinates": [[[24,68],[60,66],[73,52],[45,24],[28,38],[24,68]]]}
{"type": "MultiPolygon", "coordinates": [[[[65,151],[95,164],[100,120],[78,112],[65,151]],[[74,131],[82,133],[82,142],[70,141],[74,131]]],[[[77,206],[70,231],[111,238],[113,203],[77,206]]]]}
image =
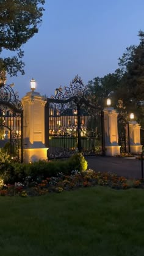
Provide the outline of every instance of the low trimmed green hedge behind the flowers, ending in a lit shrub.
{"type": "Polygon", "coordinates": [[[56,177],[58,173],[70,175],[73,170],[86,170],[87,161],[81,153],[74,154],[67,160],[39,161],[32,164],[11,163],[0,170],[0,176],[5,184],[23,183],[26,179],[37,181],[38,179],[56,177]]]}

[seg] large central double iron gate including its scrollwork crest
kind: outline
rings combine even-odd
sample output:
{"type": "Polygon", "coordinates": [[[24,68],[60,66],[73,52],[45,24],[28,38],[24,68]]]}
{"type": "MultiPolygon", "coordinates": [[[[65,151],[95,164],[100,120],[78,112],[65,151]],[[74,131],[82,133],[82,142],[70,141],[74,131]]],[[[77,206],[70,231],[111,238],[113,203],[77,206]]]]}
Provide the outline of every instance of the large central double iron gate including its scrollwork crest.
{"type": "Polygon", "coordinates": [[[86,87],[76,77],[70,88],[56,89],[45,107],[45,142],[48,159],[74,152],[103,154],[103,111],[87,100],[86,87]]]}

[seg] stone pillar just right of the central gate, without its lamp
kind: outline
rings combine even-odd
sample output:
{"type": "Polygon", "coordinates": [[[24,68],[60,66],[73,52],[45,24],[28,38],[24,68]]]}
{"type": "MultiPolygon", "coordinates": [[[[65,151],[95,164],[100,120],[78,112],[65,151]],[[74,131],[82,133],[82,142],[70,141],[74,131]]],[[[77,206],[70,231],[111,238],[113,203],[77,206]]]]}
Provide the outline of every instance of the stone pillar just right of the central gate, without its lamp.
{"type": "Polygon", "coordinates": [[[104,108],[104,136],[106,156],[120,154],[118,146],[117,111],[112,107],[104,108]]]}

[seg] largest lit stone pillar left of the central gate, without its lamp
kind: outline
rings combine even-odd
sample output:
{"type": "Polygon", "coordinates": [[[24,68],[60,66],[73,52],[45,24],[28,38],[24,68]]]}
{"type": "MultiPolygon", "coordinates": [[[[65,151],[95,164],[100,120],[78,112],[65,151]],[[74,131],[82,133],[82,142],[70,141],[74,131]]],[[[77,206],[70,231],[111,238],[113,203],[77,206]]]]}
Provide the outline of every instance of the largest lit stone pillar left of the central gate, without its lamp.
{"type": "Polygon", "coordinates": [[[22,99],[24,109],[24,162],[47,160],[45,147],[46,101],[34,90],[22,99]]]}

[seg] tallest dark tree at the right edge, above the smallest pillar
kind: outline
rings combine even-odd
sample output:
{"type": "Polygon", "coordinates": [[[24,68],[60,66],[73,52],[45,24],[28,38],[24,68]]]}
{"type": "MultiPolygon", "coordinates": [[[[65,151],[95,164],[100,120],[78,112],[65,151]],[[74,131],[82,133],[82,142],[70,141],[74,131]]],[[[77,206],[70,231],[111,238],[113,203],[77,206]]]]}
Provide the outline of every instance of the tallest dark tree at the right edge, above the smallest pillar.
{"type": "Polygon", "coordinates": [[[144,32],[139,31],[140,43],[126,48],[119,58],[119,67],[123,73],[115,97],[123,99],[128,112],[134,112],[141,124],[144,124],[144,32]],[[141,104],[140,104],[141,102],[141,104]]]}

